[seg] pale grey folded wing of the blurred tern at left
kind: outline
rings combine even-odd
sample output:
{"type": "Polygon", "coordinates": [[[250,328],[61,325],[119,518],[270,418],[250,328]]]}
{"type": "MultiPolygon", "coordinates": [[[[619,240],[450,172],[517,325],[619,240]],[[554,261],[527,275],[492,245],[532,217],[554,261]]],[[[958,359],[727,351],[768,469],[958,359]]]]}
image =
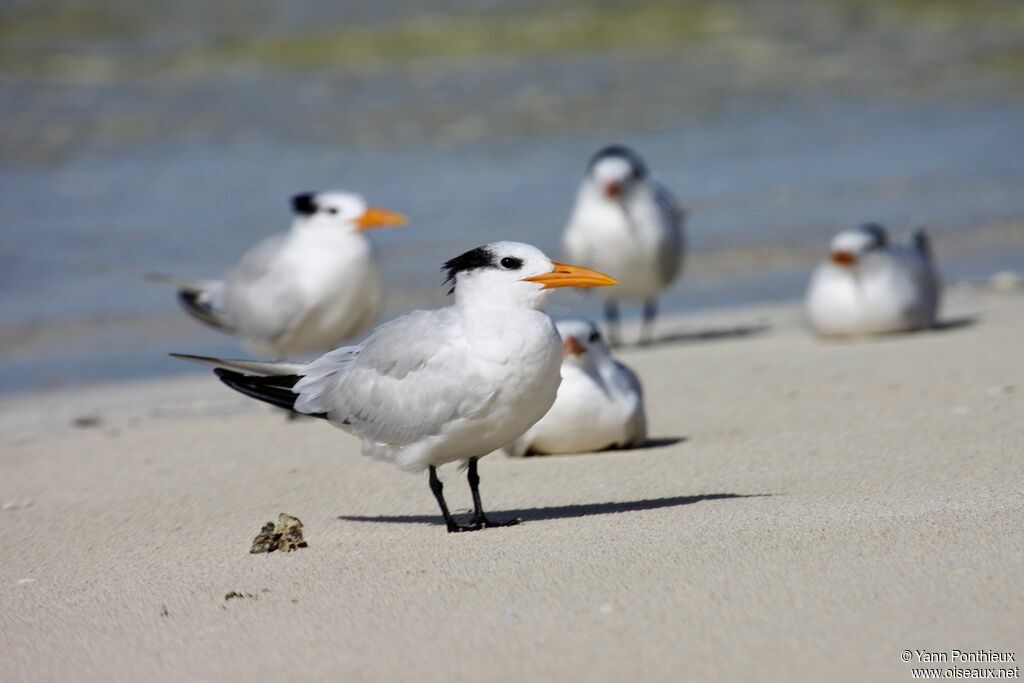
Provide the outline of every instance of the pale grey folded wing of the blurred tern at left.
{"type": "Polygon", "coordinates": [[[286,234],[250,249],[228,273],[223,308],[244,335],[272,342],[291,329],[304,310],[297,281],[280,258],[286,234]]]}

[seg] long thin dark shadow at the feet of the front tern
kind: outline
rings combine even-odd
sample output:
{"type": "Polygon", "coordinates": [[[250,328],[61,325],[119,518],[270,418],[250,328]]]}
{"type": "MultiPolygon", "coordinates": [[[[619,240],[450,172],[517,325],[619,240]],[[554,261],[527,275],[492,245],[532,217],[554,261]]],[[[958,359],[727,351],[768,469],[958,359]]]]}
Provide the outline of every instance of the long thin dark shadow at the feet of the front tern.
{"type": "MultiPolygon", "coordinates": [[[[640,501],[609,501],[607,503],[580,503],[577,505],[556,505],[546,508],[522,508],[518,510],[488,511],[495,519],[518,518],[524,522],[545,519],[575,519],[594,515],[613,515],[623,512],[642,512],[678,508],[694,503],[725,501],[740,498],[770,498],[772,494],[703,494],[700,496],[671,496],[669,498],[648,498],[640,501]]],[[[339,515],[338,519],[351,522],[375,522],[379,524],[432,524],[443,526],[440,515],[339,515]]]]}

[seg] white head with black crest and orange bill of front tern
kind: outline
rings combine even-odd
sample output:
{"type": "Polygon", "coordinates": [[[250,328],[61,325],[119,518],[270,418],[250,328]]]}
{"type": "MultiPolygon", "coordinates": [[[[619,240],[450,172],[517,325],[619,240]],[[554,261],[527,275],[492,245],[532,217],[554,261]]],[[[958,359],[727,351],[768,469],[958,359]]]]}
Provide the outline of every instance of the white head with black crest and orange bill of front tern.
{"type": "Polygon", "coordinates": [[[603,273],[552,261],[521,242],[493,242],[457,256],[441,267],[459,306],[539,309],[558,287],[616,284],[603,273]]]}

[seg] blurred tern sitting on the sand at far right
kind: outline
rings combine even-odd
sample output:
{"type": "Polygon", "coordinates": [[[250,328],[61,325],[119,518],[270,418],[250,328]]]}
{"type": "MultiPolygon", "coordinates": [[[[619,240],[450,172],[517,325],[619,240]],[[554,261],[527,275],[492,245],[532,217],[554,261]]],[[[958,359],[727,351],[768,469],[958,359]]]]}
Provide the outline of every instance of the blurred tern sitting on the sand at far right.
{"type": "Polygon", "coordinates": [[[935,324],[941,279],[928,236],[892,244],[876,224],[837,234],[811,276],[805,313],[822,336],[905,332],[935,324]]]}

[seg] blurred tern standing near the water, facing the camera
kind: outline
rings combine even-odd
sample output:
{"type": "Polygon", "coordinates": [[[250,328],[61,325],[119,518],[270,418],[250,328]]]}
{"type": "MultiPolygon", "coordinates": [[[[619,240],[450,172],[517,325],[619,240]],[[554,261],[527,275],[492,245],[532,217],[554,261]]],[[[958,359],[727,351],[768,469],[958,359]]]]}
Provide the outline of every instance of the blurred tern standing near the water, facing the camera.
{"type": "Polygon", "coordinates": [[[590,160],[562,238],[566,258],[620,281],[604,294],[608,338],[618,339],[618,302],[643,304],[640,343],[651,341],[657,295],[682,271],[685,212],[633,150],[614,144],[590,160]]]}

